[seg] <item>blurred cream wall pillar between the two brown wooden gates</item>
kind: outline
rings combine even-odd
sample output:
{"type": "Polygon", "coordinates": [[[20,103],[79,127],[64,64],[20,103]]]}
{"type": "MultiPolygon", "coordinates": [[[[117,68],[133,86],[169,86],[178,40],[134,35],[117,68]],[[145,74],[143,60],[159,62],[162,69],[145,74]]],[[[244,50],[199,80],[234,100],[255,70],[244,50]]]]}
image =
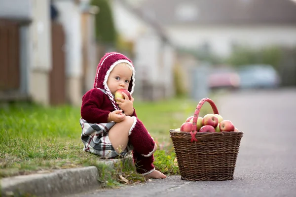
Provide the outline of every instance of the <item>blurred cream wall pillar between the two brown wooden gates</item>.
{"type": "Polygon", "coordinates": [[[50,0],[31,0],[31,5],[29,92],[35,101],[49,104],[49,72],[52,66],[50,0]]]}

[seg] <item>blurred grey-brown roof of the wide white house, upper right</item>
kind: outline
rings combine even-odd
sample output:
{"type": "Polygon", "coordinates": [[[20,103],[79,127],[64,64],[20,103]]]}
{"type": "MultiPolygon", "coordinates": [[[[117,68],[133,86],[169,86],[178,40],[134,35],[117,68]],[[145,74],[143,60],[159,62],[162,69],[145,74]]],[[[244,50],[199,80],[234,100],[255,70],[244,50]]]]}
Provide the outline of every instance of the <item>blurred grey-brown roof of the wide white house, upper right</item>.
{"type": "Polygon", "coordinates": [[[138,9],[163,25],[296,24],[293,0],[143,0],[138,9]]]}

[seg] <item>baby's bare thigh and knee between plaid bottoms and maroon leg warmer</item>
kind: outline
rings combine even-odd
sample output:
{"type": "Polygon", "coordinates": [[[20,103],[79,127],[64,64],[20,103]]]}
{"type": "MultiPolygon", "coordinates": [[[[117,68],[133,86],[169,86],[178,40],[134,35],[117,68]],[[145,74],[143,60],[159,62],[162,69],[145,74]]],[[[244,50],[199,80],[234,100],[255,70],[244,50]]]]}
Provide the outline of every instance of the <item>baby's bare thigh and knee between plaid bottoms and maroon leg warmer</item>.
{"type": "Polygon", "coordinates": [[[116,123],[109,131],[109,139],[115,151],[120,154],[127,146],[128,133],[134,123],[134,119],[126,116],[123,121],[116,123]]]}

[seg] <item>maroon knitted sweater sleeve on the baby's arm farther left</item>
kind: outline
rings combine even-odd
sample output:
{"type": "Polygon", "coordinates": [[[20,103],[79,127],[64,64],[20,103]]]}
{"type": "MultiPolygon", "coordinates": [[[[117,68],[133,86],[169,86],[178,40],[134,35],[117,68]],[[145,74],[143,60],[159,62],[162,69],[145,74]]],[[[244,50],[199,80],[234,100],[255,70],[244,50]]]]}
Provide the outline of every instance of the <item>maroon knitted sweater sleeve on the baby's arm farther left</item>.
{"type": "Polygon", "coordinates": [[[105,94],[102,91],[89,90],[82,97],[81,118],[88,123],[107,123],[110,110],[106,110],[106,105],[105,94]]]}

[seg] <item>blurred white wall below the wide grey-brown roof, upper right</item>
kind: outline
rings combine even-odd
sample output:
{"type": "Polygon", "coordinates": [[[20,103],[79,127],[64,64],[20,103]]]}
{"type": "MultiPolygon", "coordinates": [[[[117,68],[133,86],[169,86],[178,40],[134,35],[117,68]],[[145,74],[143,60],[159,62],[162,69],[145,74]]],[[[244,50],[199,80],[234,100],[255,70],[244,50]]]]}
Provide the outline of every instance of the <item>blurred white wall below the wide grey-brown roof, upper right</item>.
{"type": "Polygon", "coordinates": [[[214,53],[221,56],[231,53],[232,44],[251,47],[296,44],[296,27],[292,26],[171,26],[166,30],[174,44],[193,49],[208,44],[214,53]]]}

